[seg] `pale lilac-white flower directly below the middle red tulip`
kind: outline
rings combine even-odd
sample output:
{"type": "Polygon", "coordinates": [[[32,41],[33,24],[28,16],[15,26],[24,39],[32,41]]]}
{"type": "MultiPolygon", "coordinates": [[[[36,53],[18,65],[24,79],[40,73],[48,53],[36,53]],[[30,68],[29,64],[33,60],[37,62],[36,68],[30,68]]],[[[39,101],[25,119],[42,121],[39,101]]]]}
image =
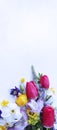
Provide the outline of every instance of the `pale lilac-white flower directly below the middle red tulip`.
{"type": "Polygon", "coordinates": [[[43,101],[38,100],[36,102],[32,99],[27,105],[32,109],[32,111],[40,113],[43,108],[43,101]]]}

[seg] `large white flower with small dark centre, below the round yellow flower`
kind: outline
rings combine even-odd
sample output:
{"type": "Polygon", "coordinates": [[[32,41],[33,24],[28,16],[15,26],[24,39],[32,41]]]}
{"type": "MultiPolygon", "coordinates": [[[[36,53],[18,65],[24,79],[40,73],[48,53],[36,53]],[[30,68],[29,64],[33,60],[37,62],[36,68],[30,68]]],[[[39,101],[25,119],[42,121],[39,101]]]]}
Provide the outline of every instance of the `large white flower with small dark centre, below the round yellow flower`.
{"type": "Polygon", "coordinates": [[[21,119],[22,114],[20,112],[20,107],[18,107],[15,103],[8,104],[8,109],[10,116],[9,118],[6,117],[6,120],[10,126],[12,126],[21,119]]]}

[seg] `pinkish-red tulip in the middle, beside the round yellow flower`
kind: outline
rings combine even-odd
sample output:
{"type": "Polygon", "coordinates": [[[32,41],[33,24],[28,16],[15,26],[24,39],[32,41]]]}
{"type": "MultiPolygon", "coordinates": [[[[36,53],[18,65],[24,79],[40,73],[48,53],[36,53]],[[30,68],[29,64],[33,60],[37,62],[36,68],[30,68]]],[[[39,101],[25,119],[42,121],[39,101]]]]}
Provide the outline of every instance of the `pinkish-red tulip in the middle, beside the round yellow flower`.
{"type": "Polygon", "coordinates": [[[28,99],[34,99],[38,97],[38,89],[33,81],[26,83],[26,95],[28,99]]]}

